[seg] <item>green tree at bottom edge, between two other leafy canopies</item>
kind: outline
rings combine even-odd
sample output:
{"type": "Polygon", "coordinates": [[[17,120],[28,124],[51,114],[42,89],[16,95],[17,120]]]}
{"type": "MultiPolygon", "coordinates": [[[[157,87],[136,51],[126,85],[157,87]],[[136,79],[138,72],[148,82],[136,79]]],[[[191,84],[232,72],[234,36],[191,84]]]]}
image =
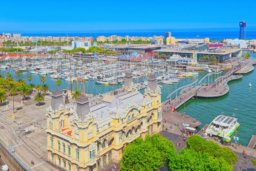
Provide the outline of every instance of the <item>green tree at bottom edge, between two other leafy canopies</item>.
{"type": "Polygon", "coordinates": [[[201,154],[188,148],[180,150],[179,155],[174,157],[168,156],[168,159],[169,163],[166,167],[169,170],[232,171],[233,169],[233,166],[228,164],[223,158],[214,158],[206,153],[201,154]]]}

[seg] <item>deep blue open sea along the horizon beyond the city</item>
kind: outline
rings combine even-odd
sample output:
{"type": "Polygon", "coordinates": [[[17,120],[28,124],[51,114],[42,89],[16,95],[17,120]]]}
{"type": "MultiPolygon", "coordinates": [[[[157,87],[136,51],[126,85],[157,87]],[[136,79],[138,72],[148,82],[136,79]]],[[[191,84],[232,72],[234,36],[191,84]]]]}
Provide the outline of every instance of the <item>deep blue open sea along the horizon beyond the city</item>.
{"type": "MultiPolygon", "coordinates": [[[[67,32],[63,33],[21,33],[22,36],[53,36],[53,37],[58,37],[58,36],[67,36],[67,32]]],[[[69,33],[68,36],[78,36],[78,37],[83,37],[83,36],[90,36],[95,39],[98,36],[111,36],[111,35],[117,35],[117,36],[122,36],[125,37],[126,35],[129,35],[130,37],[132,36],[142,36],[142,37],[151,37],[154,35],[157,36],[165,36],[165,32],[119,32],[119,33],[114,33],[114,32],[108,32],[108,33],[100,33],[100,32],[95,32],[95,33],[69,33]]],[[[171,36],[176,37],[176,38],[205,38],[209,37],[210,40],[223,40],[223,39],[236,39],[239,38],[239,29],[237,31],[177,31],[177,32],[171,32],[171,36]]],[[[246,40],[251,40],[251,39],[256,39],[256,31],[246,31],[246,40]]]]}

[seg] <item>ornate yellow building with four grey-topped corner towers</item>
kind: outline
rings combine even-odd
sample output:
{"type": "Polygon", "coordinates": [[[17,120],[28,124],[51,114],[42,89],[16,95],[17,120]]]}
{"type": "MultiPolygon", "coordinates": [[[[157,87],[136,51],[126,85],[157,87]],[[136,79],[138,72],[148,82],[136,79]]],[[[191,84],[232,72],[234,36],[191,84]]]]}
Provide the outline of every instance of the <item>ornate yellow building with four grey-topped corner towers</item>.
{"type": "Polygon", "coordinates": [[[98,103],[80,96],[76,105],[65,106],[62,91],[52,91],[46,109],[49,162],[66,170],[94,171],[121,159],[126,144],[162,130],[155,75],[148,76],[144,95],[135,89],[132,73],[125,73],[123,88],[95,99],[98,103]]]}

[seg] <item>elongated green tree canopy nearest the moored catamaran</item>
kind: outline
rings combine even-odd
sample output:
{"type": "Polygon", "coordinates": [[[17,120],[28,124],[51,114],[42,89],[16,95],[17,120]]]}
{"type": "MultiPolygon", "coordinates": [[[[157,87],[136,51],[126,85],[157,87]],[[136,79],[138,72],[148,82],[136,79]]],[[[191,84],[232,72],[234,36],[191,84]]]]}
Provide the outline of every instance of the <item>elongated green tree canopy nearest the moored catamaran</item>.
{"type": "Polygon", "coordinates": [[[220,147],[212,141],[206,141],[200,136],[190,136],[186,141],[187,147],[201,154],[206,153],[213,158],[223,158],[228,164],[237,162],[237,155],[228,147],[220,147]]]}

